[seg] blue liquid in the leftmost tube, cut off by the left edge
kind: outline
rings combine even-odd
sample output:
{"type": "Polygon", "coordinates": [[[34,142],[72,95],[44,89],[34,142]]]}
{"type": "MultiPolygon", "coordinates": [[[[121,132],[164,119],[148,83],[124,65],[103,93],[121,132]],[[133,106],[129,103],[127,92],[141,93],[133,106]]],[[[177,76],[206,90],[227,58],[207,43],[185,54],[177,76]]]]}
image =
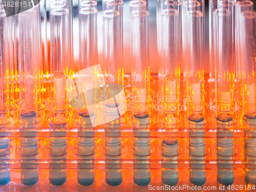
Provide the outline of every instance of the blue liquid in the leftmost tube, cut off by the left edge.
{"type": "Polygon", "coordinates": [[[10,140],[9,138],[0,138],[0,185],[6,185],[10,182],[10,169],[8,161],[10,159],[10,140]]]}

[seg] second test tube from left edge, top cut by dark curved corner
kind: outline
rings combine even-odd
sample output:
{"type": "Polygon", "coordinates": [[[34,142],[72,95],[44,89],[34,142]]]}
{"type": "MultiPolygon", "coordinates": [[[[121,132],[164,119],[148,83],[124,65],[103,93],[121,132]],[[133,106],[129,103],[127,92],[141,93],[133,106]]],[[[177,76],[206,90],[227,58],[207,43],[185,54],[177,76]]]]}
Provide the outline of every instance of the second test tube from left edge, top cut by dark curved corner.
{"type": "Polygon", "coordinates": [[[19,125],[21,180],[25,185],[38,182],[36,165],[38,145],[36,129],[40,121],[41,34],[39,5],[17,15],[18,71],[19,71],[19,125]],[[30,131],[27,131],[31,129],[30,131]]]}

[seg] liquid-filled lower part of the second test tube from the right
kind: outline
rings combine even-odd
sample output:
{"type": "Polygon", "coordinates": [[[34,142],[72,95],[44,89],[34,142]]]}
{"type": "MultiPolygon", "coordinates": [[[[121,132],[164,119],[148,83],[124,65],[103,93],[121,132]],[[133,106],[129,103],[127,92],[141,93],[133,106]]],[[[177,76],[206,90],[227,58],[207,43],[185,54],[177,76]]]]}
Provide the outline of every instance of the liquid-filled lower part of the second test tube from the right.
{"type": "Polygon", "coordinates": [[[222,185],[230,185],[234,182],[232,137],[232,117],[217,117],[217,181],[222,185]]]}

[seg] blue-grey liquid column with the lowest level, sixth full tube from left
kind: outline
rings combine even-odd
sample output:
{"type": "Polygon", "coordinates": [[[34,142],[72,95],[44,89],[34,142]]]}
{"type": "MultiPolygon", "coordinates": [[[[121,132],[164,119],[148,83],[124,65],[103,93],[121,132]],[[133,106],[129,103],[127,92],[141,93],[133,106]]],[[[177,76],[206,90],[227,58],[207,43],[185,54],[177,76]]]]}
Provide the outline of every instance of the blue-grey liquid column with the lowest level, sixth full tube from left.
{"type": "Polygon", "coordinates": [[[162,141],[162,182],[165,185],[173,186],[179,182],[178,154],[177,139],[162,141]]]}

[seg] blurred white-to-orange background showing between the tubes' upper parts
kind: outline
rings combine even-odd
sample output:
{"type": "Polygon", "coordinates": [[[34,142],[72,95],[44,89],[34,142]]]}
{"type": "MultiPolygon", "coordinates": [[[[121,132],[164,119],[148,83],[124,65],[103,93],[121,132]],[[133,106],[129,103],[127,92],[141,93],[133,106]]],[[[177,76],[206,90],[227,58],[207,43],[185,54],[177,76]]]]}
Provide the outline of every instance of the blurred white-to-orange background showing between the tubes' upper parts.
{"type": "MultiPolygon", "coordinates": [[[[54,0],[47,0],[47,37],[50,39],[50,23],[49,23],[49,5],[54,0]]],[[[131,54],[130,54],[130,8],[129,0],[123,0],[123,69],[125,74],[131,73],[131,54]]],[[[256,0],[254,10],[256,10],[256,0]]],[[[97,1],[97,27],[98,27],[98,62],[103,64],[103,16],[101,1],[97,1]]],[[[73,38],[74,38],[74,64],[78,63],[79,56],[79,26],[78,26],[78,0],[73,0],[74,18],[73,18],[73,38]]],[[[209,73],[209,2],[205,1],[205,29],[204,29],[204,71],[209,73]]],[[[151,74],[157,74],[158,56],[157,56],[157,24],[156,24],[156,0],[148,0],[148,11],[150,12],[150,68],[151,74]]],[[[181,63],[181,73],[183,73],[183,65],[181,63]]]]}

